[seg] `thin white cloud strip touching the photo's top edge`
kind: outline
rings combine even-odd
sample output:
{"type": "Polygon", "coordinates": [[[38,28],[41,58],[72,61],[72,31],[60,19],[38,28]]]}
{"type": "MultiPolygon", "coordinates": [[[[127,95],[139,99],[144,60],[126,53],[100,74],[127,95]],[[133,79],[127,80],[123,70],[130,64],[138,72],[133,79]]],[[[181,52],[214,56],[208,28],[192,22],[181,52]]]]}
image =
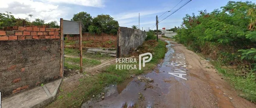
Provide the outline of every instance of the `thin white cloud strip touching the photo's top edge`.
{"type": "Polygon", "coordinates": [[[82,6],[104,7],[104,0],[46,0],[50,3],[65,3],[82,6]]]}

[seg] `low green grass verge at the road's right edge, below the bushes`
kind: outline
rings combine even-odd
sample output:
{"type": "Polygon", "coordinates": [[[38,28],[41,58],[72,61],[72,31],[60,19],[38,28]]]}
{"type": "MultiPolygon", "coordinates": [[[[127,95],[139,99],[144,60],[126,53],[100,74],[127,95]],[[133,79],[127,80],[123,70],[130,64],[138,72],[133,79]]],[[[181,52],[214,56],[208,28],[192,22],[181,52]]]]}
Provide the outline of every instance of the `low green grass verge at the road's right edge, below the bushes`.
{"type": "Polygon", "coordinates": [[[222,73],[226,79],[235,87],[240,90],[239,94],[241,97],[256,102],[256,77],[255,73],[248,73],[246,76],[236,75],[240,70],[232,68],[225,68],[218,61],[211,61],[215,68],[222,73]]]}

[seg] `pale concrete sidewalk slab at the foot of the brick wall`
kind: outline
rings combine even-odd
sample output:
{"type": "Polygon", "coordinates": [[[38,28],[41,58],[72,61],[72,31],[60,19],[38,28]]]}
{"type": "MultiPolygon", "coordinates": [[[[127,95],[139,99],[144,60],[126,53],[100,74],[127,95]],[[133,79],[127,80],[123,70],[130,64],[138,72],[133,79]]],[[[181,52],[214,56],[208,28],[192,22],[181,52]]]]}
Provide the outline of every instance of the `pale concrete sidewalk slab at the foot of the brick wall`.
{"type": "Polygon", "coordinates": [[[54,101],[62,79],[50,82],[2,101],[2,108],[39,108],[54,101]]]}

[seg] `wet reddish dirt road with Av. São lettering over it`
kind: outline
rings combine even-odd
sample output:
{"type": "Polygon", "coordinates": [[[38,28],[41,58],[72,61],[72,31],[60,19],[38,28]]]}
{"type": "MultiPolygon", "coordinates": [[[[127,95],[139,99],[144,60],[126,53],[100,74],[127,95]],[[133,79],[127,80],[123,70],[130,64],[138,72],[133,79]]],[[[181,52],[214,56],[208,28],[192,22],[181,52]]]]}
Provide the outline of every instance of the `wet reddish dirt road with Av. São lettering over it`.
{"type": "Polygon", "coordinates": [[[252,102],[237,96],[209,61],[181,44],[159,38],[169,43],[162,64],[122,85],[110,85],[103,100],[98,96],[82,107],[256,108],[252,102]]]}

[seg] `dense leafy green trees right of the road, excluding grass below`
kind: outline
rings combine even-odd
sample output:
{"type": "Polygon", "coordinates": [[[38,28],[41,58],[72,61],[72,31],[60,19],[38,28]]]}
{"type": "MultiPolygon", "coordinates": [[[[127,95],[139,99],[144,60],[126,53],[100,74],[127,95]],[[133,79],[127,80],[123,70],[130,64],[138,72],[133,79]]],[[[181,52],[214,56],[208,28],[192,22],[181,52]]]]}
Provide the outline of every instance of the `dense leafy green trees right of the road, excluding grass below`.
{"type": "Polygon", "coordinates": [[[197,16],[187,14],[175,40],[213,59],[220,58],[224,64],[251,63],[250,67],[254,67],[255,8],[249,1],[229,1],[221,10],[199,11],[197,16]]]}

